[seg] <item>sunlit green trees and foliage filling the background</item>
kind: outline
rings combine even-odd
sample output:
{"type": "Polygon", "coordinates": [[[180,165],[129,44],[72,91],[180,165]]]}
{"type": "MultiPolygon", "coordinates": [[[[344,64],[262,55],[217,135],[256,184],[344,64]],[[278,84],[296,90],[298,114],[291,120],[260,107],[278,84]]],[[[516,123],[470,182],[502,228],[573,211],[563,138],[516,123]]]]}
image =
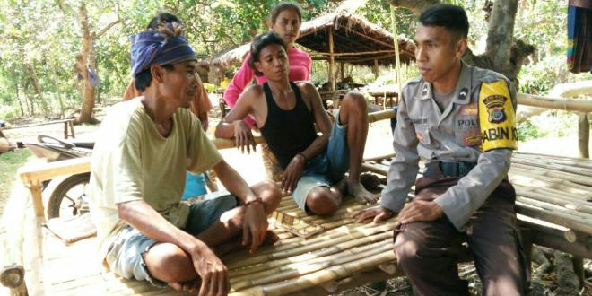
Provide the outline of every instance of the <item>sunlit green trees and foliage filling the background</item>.
{"type": "MultiPolygon", "coordinates": [[[[56,116],[64,109],[81,105],[79,82],[74,72],[76,55],[82,48],[79,7],[86,4],[92,32],[98,32],[118,17],[124,22],[107,30],[93,44],[97,54],[100,97],[119,97],[131,80],[129,39],[144,30],[152,16],[161,11],[175,13],[186,22],[187,39],[200,56],[239,45],[267,30],[266,18],[278,0],[8,0],[0,2],[0,117],[26,115],[56,116]],[[28,68],[27,65],[30,65],[28,68]],[[30,69],[39,83],[33,88],[30,69]],[[43,106],[48,114],[41,114],[43,106]]],[[[341,1],[294,0],[304,19],[330,12],[341,1]]],[[[447,0],[466,8],[471,30],[469,39],[479,40],[487,32],[483,0],[447,0]]],[[[537,46],[540,62],[523,67],[520,91],[542,94],[555,83],[570,80],[564,64],[563,38],[566,4],[561,1],[520,1],[516,37],[537,46]],[[562,36],[562,38],[557,38],[562,36]]],[[[391,30],[390,6],[386,0],[367,1],[356,13],[385,30],[391,30]]],[[[413,38],[415,16],[397,8],[400,34],[413,38]]],[[[472,45],[472,48],[474,46],[472,45]]],[[[402,80],[413,77],[414,66],[405,68],[402,80]]],[[[369,68],[346,68],[356,83],[375,80],[369,68]]],[[[381,74],[394,77],[392,69],[381,74]]],[[[326,64],[313,63],[311,79],[326,82],[326,64]]],[[[67,114],[67,113],[66,113],[67,114]]]]}

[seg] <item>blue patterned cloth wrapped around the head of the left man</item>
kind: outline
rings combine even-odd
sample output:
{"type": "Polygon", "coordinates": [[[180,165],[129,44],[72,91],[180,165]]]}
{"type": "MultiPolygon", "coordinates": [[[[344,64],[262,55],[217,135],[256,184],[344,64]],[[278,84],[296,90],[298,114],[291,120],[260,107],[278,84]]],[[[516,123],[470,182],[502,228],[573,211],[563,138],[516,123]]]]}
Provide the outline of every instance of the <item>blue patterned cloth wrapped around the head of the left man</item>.
{"type": "Polygon", "coordinates": [[[183,36],[183,29],[184,26],[178,22],[167,22],[157,30],[147,30],[130,37],[134,78],[149,65],[178,64],[196,59],[196,52],[183,36]]]}

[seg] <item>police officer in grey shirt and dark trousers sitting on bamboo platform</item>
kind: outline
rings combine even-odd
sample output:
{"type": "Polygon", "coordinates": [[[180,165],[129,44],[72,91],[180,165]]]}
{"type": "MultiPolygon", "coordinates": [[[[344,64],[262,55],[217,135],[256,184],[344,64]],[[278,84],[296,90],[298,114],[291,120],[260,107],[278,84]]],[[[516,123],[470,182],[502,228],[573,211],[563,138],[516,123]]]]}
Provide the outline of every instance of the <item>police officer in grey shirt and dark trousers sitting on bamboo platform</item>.
{"type": "Polygon", "coordinates": [[[507,177],[518,142],[516,93],[505,76],[461,61],[467,32],[461,7],[438,4],[420,16],[421,77],[402,91],[387,188],[379,207],[355,215],[381,222],[398,213],[398,264],[424,295],[468,294],[456,265],[463,241],[483,295],[520,295],[528,274],[507,177]],[[420,158],[425,170],[415,181],[420,158]],[[415,197],[405,205],[414,184],[415,197]]]}

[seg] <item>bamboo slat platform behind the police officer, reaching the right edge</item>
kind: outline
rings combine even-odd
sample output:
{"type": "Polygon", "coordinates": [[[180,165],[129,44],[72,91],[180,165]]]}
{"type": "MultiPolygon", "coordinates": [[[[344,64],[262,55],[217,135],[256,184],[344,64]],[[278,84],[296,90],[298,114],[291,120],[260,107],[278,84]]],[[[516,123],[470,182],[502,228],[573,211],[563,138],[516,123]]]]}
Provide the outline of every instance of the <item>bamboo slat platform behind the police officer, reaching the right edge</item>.
{"type": "MultiPolygon", "coordinates": [[[[386,176],[392,157],[365,161],[362,170],[386,176]]],[[[508,177],[527,239],[592,258],[592,160],[515,152],[511,162],[508,177]]]]}

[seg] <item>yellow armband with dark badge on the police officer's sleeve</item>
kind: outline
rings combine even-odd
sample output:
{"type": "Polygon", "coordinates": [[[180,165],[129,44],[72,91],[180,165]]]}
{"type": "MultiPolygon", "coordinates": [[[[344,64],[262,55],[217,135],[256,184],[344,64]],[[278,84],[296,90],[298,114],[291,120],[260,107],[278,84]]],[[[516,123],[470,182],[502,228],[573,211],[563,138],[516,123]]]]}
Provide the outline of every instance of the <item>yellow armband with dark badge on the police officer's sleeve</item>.
{"type": "Polygon", "coordinates": [[[508,84],[503,79],[482,83],[479,91],[479,125],[482,150],[518,148],[518,131],[515,124],[508,84]]]}

